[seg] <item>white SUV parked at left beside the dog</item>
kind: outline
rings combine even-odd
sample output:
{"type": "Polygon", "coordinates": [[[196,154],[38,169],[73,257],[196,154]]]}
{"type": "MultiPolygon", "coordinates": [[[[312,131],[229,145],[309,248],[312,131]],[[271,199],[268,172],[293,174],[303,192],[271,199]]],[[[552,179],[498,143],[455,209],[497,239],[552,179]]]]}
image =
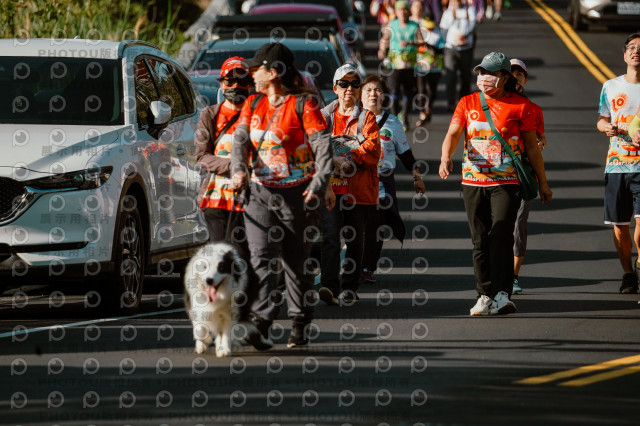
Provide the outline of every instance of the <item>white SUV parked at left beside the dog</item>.
{"type": "Polygon", "coordinates": [[[142,41],[14,39],[0,89],[0,281],[85,277],[135,311],[207,240],[190,79],[142,41]]]}

